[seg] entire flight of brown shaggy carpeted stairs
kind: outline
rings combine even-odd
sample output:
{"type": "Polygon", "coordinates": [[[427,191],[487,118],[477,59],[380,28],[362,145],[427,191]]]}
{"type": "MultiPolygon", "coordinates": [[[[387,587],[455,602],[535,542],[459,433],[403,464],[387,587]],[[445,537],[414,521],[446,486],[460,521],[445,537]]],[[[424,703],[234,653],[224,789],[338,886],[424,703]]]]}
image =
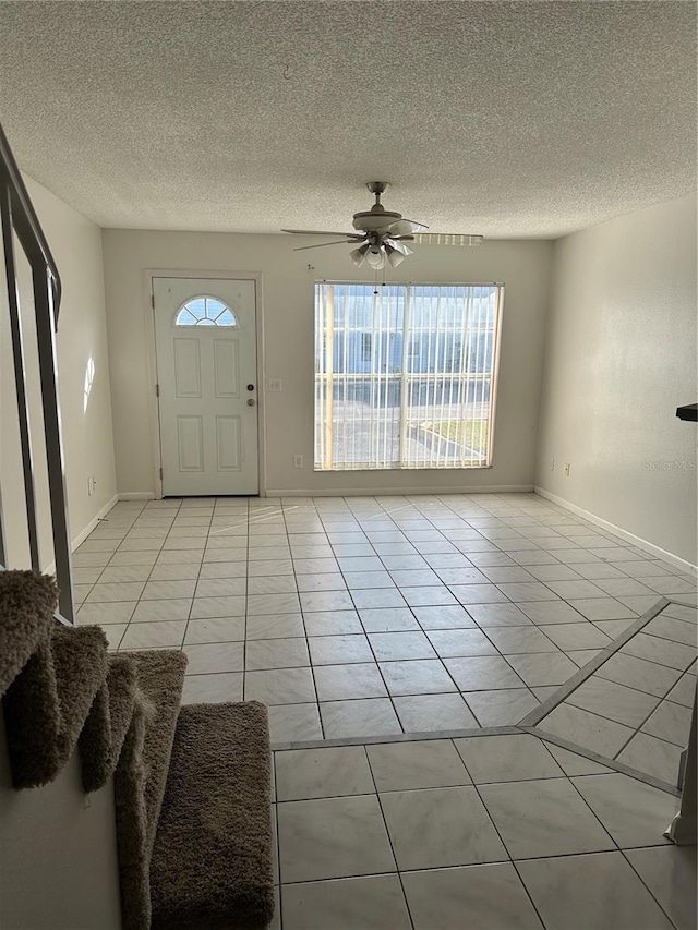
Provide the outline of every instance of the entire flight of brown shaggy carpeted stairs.
{"type": "Polygon", "coordinates": [[[15,787],[51,782],[75,747],[86,792],[113,775],[124,930],[265,927],[274,910],[266,708],[180,709],[183,653],[108,655],[104,630],[62,626],[56,603],[52,579],[0,571],[0,697],[15,787]]]}

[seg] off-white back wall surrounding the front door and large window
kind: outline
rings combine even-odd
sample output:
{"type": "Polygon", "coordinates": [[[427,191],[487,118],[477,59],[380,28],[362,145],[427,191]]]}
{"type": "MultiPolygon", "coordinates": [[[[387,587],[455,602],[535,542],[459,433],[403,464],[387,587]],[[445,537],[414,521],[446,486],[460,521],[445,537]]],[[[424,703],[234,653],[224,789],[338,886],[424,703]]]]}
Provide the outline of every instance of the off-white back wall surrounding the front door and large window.
{"type": "MultiPolygon", "coordinates": [[[[265,375],[281,394],[265,406],[266,487],[277,493],[530,488],[534,476],[544,318],[552,243],[486,242],[477,249],[420,246],[392,280],[506,285],[500,390],[491,469],[469,471],[313,471],[313,286],[365,280],[348,247],[293,252],[312,240],[288,235],[104,231],[105,287],[117,481],[120,493],[153,493],[155,460],[148,381],[145,269],[262,275],[265,375]],[[309,270],[308,263],[314,266],[309,270]],[[294,469],[301,454],[305,467],[294,469]]],[[[316,241],[316,240],[315,240],[316,241]]]]}

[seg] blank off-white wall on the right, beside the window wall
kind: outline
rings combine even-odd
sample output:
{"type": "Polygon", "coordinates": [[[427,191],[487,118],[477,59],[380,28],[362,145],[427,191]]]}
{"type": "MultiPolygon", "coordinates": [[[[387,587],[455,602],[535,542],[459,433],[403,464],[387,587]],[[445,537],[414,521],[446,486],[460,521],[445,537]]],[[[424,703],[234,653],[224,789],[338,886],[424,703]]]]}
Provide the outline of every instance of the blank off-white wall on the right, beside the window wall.
{"type": "Polygon", "coordinates": [[[553,267],[537,484],[695,565],[696,197],[565,237],[553,267]]]}

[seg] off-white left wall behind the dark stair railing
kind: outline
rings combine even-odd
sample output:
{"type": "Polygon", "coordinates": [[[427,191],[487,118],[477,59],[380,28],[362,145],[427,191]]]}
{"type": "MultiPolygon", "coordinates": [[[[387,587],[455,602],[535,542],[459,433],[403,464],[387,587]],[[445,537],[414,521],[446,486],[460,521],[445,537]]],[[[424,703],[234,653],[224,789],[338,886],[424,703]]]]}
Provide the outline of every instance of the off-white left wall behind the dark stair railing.
{"type": "MultiPolygon", "coordinates": [[[[46,188],[29,178],[25,178],[25,183],[63,285],[57,353],[69,519],[71,535],[76,539],[116,494],[101,232],[99,227],[46,188]],[[85,373],[91,359],[95,374],[89,396],[86,397],[85,373]],[[96,491],[93,495],[87,493],[88,475],[94,475],[96,480],[96,491]]],[[[22,254],[17,254],[17,263],[21,271],[22,317],[40,516],[41,564],[46,567],[53,560],[53,553],[38,365],[34,345],[32,288],[28,264],[22,254]]],[[[4,277],[0,287],[0,486],[8,538],[8,561],[12,567],[24,567],[28,565],[26,511],[4,277]]]]}

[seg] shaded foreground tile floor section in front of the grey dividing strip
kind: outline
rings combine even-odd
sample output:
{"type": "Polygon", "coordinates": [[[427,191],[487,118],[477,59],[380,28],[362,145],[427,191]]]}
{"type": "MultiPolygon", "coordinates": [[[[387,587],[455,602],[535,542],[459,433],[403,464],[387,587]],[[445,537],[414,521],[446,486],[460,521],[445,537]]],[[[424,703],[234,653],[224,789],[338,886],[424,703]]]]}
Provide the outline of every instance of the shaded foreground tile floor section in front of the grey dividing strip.
{"type": "Polygon", "coordinates": [[[284,930],[691,930],[676,799],[529,735],[275,752],[284,930]]]}

